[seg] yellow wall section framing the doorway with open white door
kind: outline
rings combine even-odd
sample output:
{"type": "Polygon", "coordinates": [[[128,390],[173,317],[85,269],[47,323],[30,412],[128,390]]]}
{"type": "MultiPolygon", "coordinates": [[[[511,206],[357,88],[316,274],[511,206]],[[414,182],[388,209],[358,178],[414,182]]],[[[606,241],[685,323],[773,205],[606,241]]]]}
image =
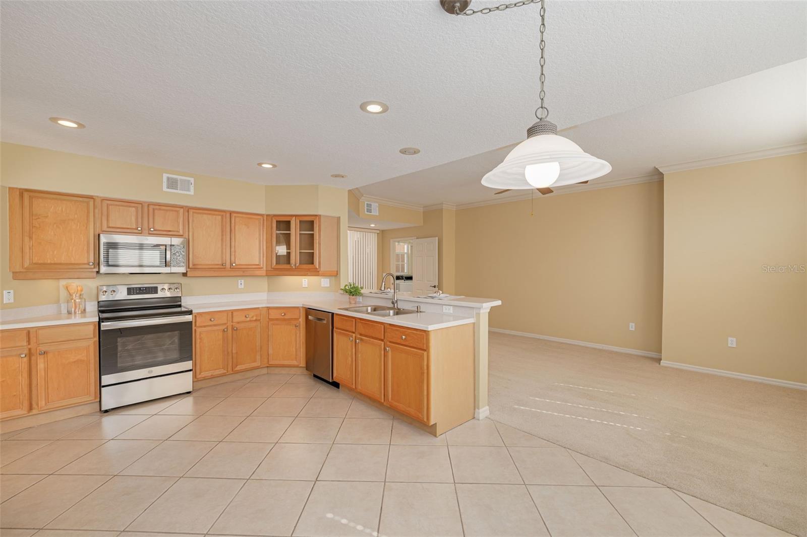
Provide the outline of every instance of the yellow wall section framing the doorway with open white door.
{"type": "Polygon", "coordinates": [[[437,237],[437,285],[445,293],[454,293],[455,212],[448,209],[424,210],[423,225],[382,231],[378,237],[378,251],[381,252],[381,264],[378,265],[379,285],[382,274],[391,271],[390,239],[437,237]]]}

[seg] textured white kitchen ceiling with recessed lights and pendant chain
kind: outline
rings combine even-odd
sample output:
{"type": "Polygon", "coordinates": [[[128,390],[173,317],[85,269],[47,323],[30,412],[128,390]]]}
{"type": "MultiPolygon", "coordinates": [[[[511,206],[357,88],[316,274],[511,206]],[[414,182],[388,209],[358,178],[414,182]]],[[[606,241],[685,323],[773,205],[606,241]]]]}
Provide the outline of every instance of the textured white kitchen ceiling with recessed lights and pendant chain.
{"type": "MultiPolygon", "coordinates": [[[[536,106],[535,6],[462,18],[437,0],[0,9],[0,135],[19,144],[353,188],[517,142],[536,106]],[[370,99],[390,111],[358,110],[370,99]],[[57,127],[54,115],[87,128],[57,127]],[[422,152],[402,156],[405,146],[422,152]],[[255,165],[267,160],[279,168],[255,165]]],[[[585,123],[797,60],[805,10],[550,0],[550,119],[585,123]]]]}

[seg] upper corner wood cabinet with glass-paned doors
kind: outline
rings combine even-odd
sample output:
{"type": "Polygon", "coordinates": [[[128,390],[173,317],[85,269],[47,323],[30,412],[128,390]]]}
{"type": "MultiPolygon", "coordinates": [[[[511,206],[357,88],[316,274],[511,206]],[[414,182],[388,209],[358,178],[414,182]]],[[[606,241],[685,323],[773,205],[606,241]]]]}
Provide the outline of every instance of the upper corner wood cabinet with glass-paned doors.
{"type": "Polygon", "coordinates": [[[266,250],[269,275],[334,276],[339,272],[339,217],[267,217],[266,250]]]}

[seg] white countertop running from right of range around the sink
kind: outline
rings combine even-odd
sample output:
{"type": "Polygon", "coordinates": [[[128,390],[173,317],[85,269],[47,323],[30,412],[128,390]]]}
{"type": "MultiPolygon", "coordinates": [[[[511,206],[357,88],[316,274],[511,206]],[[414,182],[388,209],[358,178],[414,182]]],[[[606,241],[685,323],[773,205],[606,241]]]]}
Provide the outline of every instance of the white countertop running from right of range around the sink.
{"type": "Polygon", "coordinates": [[[456,327],[461,324],[474,323],[474,318],[467,315],[449,315],[433,312],[421,312],[413,314],[395,315],[395,317],[379,317],[378,315],[362,314],[355,311],[345,311],[341,308],[349,306],[362,306],[362,304],[351,305],[345,298],[312,298],[312,299],[282,299],[282,300],[245,300],[229,302],[206,302],[201,304],[188,304],[194,313],[221,310],[244,310],[246,308],[260,307],[307,307],[316,310],[329,311],[346,315],[349,317],[366,318],[369,321],[378,323],[394,324],[399,327],[416,328],[417,330],[439,330],[440,328],[456,327]]]}

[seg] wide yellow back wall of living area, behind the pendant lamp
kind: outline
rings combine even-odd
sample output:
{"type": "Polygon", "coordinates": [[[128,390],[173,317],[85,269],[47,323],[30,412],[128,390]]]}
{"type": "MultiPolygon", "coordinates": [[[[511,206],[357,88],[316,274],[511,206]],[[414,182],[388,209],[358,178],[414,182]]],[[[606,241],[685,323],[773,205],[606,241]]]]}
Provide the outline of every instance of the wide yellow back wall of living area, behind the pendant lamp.
{"type": "Polygon", "coordinates": [[[500,298],[494,328],[661,352],[663,182],[538,198],[534,214],[456,211],[456,292],[500,298]]]}

